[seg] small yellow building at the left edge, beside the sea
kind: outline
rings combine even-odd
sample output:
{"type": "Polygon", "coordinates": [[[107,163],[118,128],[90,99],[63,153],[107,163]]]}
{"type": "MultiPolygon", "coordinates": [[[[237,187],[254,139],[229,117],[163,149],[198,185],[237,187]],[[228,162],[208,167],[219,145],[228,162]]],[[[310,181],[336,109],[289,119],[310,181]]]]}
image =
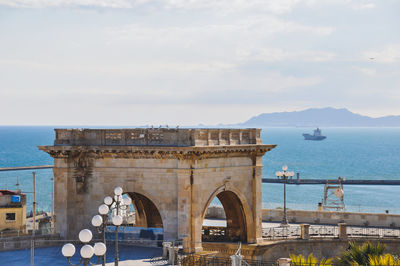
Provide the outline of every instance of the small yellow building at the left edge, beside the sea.
{"type": "Polygon", "coordinates": [[[0,231],[26,231],[26,195],[0,190],[0,231]]]}

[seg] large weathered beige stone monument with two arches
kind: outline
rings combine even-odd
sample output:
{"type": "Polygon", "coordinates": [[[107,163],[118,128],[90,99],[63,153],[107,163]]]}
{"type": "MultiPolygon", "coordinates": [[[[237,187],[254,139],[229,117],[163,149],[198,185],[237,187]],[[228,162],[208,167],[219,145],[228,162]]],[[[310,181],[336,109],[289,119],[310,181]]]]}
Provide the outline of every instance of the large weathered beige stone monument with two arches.
{"type": "Polygon", "coordinates": [[[217,197],[227,232],[243,242],[261,236],[260,129],[55,129],[56,230],[72,239],[90,227],[106,195],[121,186],[135,203],[137,224],[162,227],[164,239],[202,249],[202,224],[217,197]]]}

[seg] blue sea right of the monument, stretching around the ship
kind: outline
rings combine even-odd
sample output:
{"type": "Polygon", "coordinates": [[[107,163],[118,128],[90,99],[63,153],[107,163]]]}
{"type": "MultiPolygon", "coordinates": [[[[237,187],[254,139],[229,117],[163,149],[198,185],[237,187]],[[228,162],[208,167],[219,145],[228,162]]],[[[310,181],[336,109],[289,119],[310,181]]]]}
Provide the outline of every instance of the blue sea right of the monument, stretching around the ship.
{"type": "MultiPolygon", "coordinates": [[[[311,128],[266,128],[263,143],[278,144],[264,156],[263,176],[287,164],[301,178],[400,179],[400,128],[326,128],[323,141],[305,141],[311,128]]],[[[264,207],[281,206],[283,185],[263,184],[264,207]]],[[[316,209],[323,185],[290,185],[289,208],[316,209]]],[[[349,211],[400,213],[400,186],[345,186],[349,211]]]]}

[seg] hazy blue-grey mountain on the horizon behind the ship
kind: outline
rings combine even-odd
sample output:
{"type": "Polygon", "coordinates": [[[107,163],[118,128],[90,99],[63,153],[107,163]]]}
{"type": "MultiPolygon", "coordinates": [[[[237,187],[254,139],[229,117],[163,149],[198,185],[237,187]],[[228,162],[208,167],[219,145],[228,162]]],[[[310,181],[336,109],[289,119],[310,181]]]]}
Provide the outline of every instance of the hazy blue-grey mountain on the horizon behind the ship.
{"type": "Polygon", "coordinates": [[[400,127],[400,116],[373,118],[352,113],[347,109],[327,107],[311,108],[298,112],[260,114],[239,124],[239,126],[400,127]]]}

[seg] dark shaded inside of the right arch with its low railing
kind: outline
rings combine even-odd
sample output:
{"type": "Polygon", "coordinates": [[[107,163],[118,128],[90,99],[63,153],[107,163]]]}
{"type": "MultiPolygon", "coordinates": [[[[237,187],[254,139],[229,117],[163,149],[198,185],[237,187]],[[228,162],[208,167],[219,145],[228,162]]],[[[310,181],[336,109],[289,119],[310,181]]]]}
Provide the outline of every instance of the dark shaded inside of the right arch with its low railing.
{"type": "Polygon", "coordinates": [[[248,207],[246,206],[244,199],[241,199],[233,190],[225,190],[225,187],[217,189],[211,195],[203,210],[202,221],[204,222],[207,209],[215,197],[218,198],[222,204],[222,207],[224,208],[226,216],[226,229],[224,235],[221,235],[220,232],[214,235],[213,230],[216,230],[216,227],[203,226],[202,229],[204,234],[202,235],[202,241],[241,241],[242,243],[247,243],[248,217],[246,215],[246,208],[248,207]]]}

